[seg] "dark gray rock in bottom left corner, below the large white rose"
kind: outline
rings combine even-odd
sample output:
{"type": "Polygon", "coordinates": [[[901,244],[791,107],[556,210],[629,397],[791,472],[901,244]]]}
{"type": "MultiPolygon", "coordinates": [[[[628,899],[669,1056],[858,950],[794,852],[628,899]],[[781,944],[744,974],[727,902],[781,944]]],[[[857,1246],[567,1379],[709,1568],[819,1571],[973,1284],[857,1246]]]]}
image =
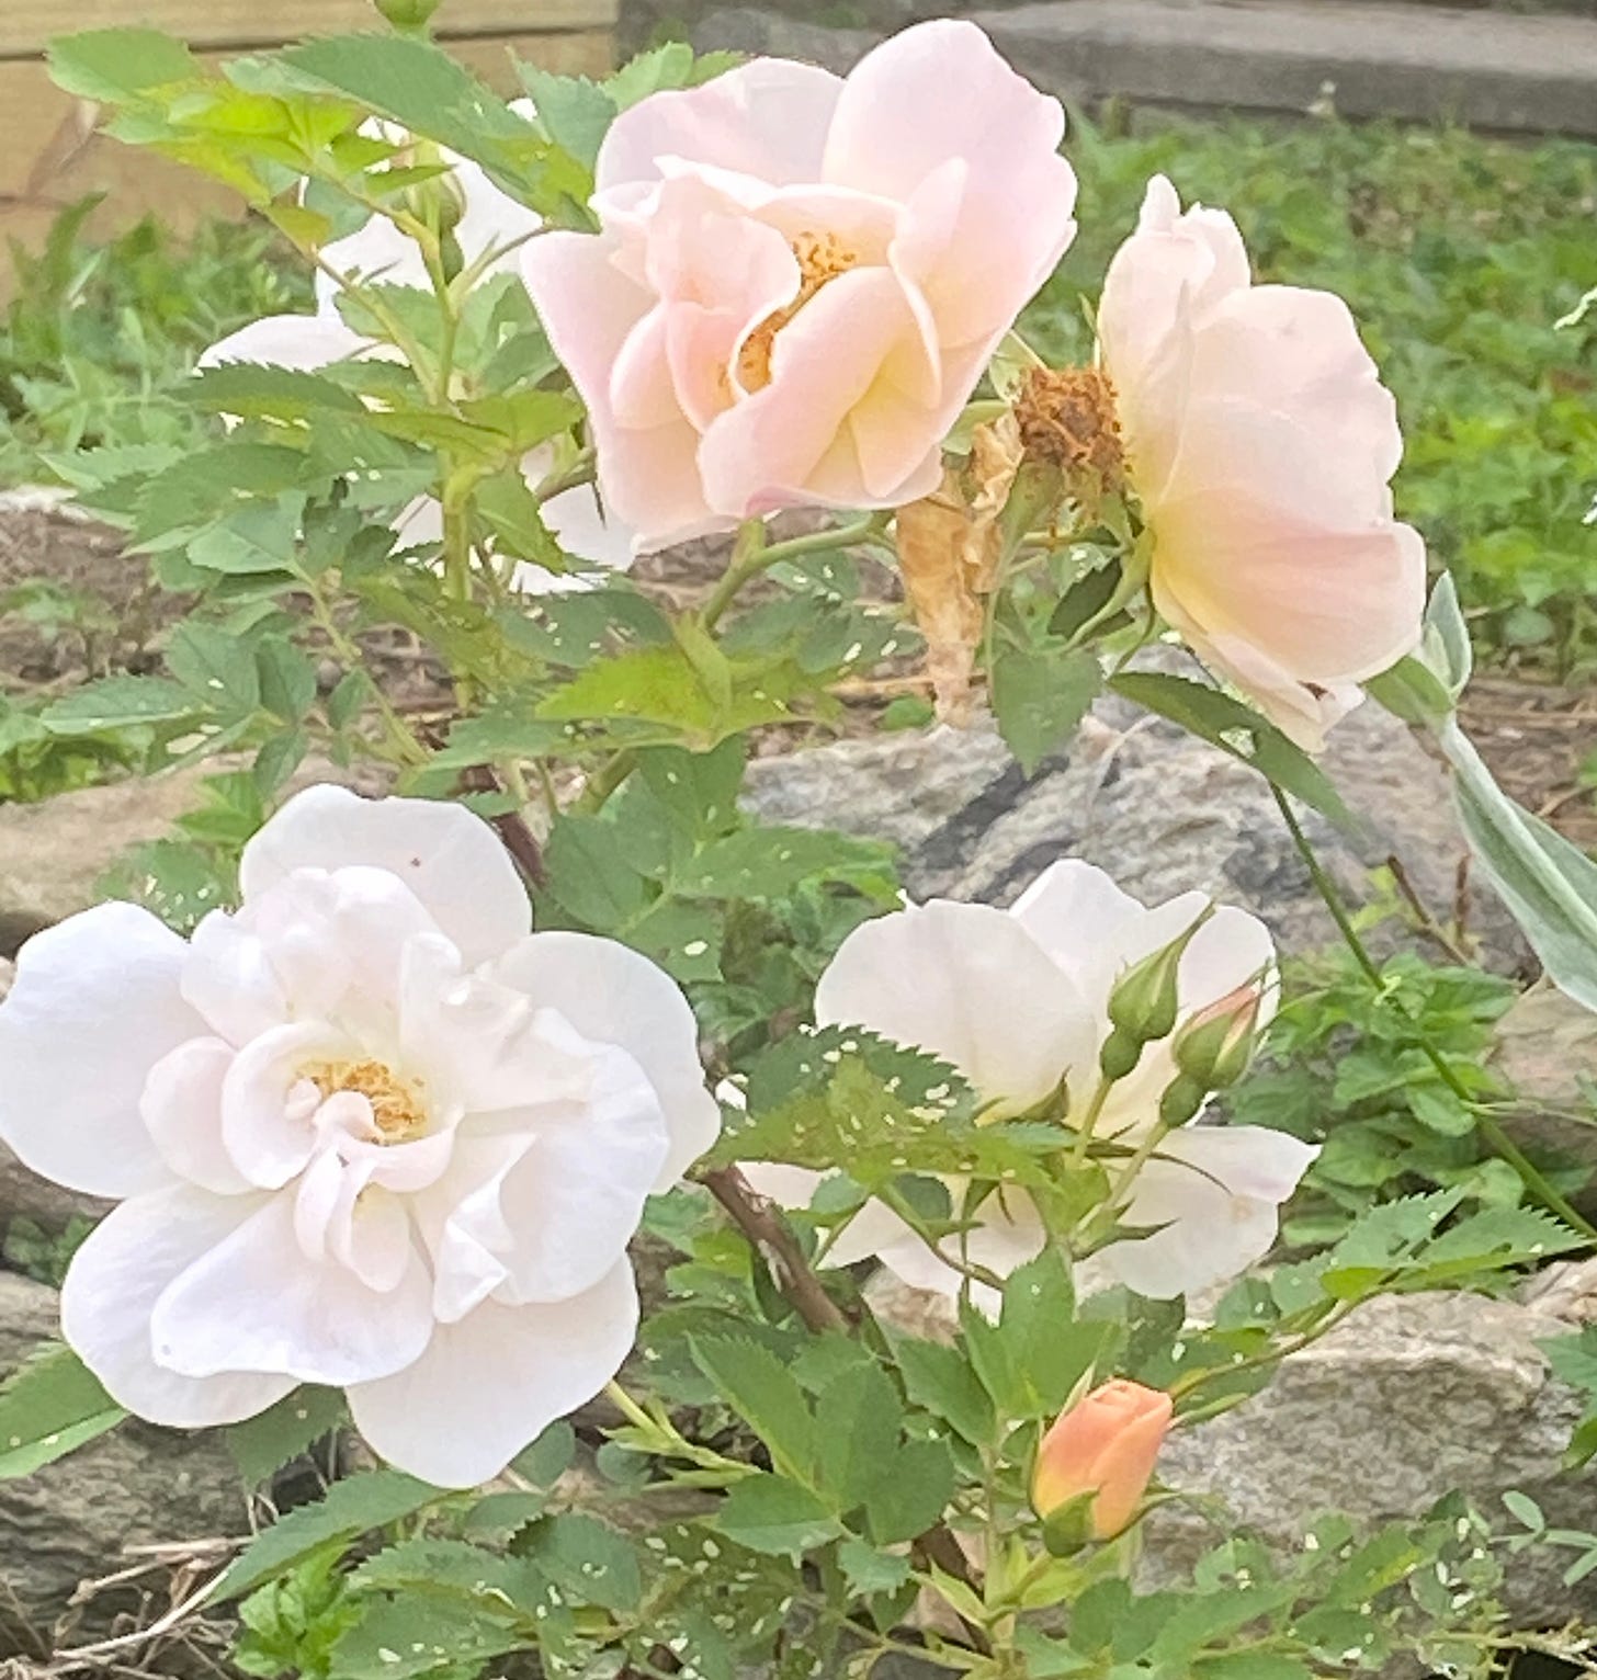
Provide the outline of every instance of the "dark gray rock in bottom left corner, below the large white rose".
{"type": "MultiPolygon", "coordinates": [[[[0,1272],[0,1371],[57,1334],[55,1292],[0,1272]]],[[[219,1435],[123,1423],[35,1475],[0,1482],[0,1656],[49,1655],[166,1604],[165,1571],[69,1601],[82,1583],[128,1566],[128,1549],[247,1532],[239,1472],[219,1435]]]]}

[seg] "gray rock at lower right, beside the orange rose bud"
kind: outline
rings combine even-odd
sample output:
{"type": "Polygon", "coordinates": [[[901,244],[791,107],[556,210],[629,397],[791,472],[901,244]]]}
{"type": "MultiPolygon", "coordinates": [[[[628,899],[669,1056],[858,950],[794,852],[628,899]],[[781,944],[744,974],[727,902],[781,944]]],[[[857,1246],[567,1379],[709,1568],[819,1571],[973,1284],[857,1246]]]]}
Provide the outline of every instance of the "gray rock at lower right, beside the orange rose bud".
{"type": "MultiPolygon", "coordinates": [[[[1562,1468],[1580,1399],[1536,1349],[1568,1322],[1483,1295],[1387,1295],[1284,1361],[1236,1411],[1170,1436],[1160,1480],[1215,1495],[1283,1551],[1308,1524],[1343,1512],[1375,1525],[1463,1492],[1494,1525],[1501,1495],[1528,1494],[1550,1525],[1597,1527],[1597,1475],[1562,1468]]],[[[1177,1576],[1219,1536],[1190,1509],[1148,1524],[1155,1579],[1177,1576]]],[[[1597,1583],[1563,1586],[1570,1554],[1531,1547],[1508,1559],[1516,1626],[1557,1626],[1597,1611],[1597,1583]]]]}

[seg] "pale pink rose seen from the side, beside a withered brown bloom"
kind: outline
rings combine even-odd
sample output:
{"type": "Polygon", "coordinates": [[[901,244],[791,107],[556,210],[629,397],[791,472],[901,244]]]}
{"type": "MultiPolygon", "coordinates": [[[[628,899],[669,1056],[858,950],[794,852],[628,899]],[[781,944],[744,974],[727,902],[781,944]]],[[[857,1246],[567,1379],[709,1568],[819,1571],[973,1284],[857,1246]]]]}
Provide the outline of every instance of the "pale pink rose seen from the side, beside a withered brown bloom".
{"type": "Polygon", "coordinates": [[[1419,642],[1426,549],[1392,517],[1392,393],[1331,292],[1254,286],[1222,210],[1162,175],[1109,264],[1103,363],[1153,533],[1153,601],[1301,746],[1419,642]]]}

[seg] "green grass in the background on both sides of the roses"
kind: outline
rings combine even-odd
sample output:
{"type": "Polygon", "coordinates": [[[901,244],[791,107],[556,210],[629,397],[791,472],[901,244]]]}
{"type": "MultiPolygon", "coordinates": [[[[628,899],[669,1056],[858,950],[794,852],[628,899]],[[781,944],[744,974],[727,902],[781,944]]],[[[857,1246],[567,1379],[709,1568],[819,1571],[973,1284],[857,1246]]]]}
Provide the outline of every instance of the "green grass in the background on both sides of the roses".
{"type": "MultiPolygon", "coordinates": [[[[1597,669],[1597,311],[1555,321],[1597,282],[1597,146],[1452,129],[1160,121],[1073,124],[1081,234],[1025,328],[1081,358],[1096,291],[1163,170],[1224,205],[1264,279],[1341,292],[1397,391],[1404,517],[1457,575],[1488,654],[1563,675],[1597,669]]],[[[182,440],[200,422],[165,391],[244,321],[304,307],[267,235],[215,225],[190,245],[146,223],[87,247],[72,218],[22,262],[0,321],[0,484],[98,442],[182,440]]]]}

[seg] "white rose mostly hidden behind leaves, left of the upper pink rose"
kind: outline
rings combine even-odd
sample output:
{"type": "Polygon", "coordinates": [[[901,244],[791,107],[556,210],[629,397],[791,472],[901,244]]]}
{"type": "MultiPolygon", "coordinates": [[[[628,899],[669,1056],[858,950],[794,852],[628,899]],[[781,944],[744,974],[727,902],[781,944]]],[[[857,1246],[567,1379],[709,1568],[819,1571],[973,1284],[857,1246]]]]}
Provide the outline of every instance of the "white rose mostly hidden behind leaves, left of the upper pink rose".
{"type": "MultiPolygon", "coordinates": [[[[445,158],[454,166],[454,185],[462,202],[454,237],[467,265],[511,240],[535,234],[543,225],[533,210],[499,192],[469,158],[457,158],[454,153],[445,153],[445,158]]],[[[358,232],[324,245],[321,255],[335,272],[350,281],[432,291],[420,247],[387,217],[372,217],[358,232]]],[[[518,252],[508,250],[486,264],[481,279],[518,272],[518,252]]],[[[336,361],[397,358],[398,351],[392,344],[365,338],[345,323],[338,312],[340,292],[338,281],[324,269],[318,269],[314,314],[281,314],[250,321],[249,326],[202,351],[197,366],[205,370],[244,361],[293,368],[296,373],[319,373],[336,361]]],[[[553,467],[555,450],[546,444],[531,450],[521,462],[521,472],[533,486],[553,467]]],[[[632,531],[609,517],[592,484],[578,484],[551,496],[543,504],[543,522],[577,561],[600,571],[625,571],[632,564],[632,531]]],[[[435,497],[422,496],[398,514],[393,526],[410,546],[437,543],[444,534],[444,509],[435,497]]],[[[516,568],[513,581],[524,595],[556,595],[590,586],[590,578],[580,571],[545,571],[524,561],[516,568]]]]}

